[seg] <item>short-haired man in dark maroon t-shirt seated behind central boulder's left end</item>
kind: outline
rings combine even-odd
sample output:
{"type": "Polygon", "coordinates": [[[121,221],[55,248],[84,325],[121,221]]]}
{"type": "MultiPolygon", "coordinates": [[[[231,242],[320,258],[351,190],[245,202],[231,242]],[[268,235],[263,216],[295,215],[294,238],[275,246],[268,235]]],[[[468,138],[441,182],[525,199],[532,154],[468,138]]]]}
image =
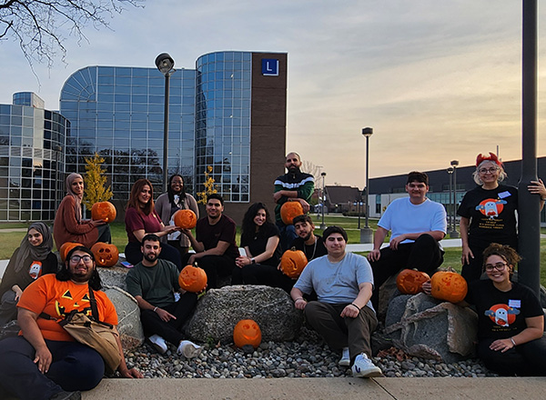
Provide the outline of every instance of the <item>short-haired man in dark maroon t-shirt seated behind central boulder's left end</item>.
{"type": "Polygon", "coordinates": [[[235,221],[224,215],[224,199],[213,193],[207,195],[207,216],[197,221],[196,236],[189,229],[183,229],[193,249],[194,255],[187,255],[183,265],[193,264],[203,268],[207,273],[207,287],[217,287],[218,276],[231,275],[235,268],[235,259],[238,257],[238,246],[235,243],[235,221]]]}

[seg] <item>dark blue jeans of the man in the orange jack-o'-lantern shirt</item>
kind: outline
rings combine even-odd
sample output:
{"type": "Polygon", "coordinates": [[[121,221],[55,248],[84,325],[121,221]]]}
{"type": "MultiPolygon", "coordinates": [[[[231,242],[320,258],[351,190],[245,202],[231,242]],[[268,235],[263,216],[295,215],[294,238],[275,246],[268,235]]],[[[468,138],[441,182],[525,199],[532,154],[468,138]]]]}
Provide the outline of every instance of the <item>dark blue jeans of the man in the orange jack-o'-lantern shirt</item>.
{"type": "Polygon", "coordinates": [[[42,374],[35,348],[23,336],[0,341],[0,385],[21,400],[46,400],[63,390],[91,390],[105,375],[105,363],[91,347],[47,339],[45,345],[53,361],[42,374]]]}

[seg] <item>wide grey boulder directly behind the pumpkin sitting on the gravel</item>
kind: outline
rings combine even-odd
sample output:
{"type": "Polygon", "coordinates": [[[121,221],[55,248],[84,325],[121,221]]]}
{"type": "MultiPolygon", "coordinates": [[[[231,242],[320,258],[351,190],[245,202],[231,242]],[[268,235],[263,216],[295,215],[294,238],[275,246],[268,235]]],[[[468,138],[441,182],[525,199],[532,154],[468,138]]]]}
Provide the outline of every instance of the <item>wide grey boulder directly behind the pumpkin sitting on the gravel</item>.
{"type": "Polygon", "coordinates": [[[290,296],[278,287],[234,285],[210,289],[197,303],[186,325],[191,340],[233,342],[233,328],[241,319],[253,319],[263,341],[293,340],[303,323],[303,313],[290,296]]]}

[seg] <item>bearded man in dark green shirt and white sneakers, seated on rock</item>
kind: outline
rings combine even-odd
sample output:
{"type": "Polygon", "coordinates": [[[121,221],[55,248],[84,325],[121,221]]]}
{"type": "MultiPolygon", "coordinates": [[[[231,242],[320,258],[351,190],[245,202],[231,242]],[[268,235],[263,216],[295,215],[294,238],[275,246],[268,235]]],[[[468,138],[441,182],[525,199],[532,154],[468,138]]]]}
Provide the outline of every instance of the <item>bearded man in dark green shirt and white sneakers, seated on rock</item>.
{"type": "Polygon", "coordinates": [[[159,237],[145,235],[141,247],[143,259],[126,275],[127,292],[136,298],[144,334],[160,354],[167,352],[167,342],[187,358],[201,353],[201,347],[184,340],[180,328],[193,312],[197,295],[187,293],[178,285],[177,266],[157,258],[161,252],[159,237]],[[175,292],[180,298],[175,299],[175,292]]]}

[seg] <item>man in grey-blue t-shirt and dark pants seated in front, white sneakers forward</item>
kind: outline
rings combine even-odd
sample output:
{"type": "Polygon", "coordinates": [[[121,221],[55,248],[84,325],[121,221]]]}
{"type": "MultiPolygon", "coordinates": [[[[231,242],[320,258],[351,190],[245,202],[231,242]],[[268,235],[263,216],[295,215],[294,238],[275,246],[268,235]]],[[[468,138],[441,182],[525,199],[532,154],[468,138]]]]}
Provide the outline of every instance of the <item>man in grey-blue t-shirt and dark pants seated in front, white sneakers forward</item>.
{"type": "Polygon", "coordinates": [[[373,275],[368,260],[345,252],[347,233],[339,226],[329,226],[323,240],[328,255],[303,270],[290,292],[294,305],[331,348],[342,351],[339,365],[352,365],[353,376],[380,376],[369,359],[370,335],[378,320],[369,302],[373,275]],[[303,294],[312,290],[319,300],[308,303],[303,294]]]}

